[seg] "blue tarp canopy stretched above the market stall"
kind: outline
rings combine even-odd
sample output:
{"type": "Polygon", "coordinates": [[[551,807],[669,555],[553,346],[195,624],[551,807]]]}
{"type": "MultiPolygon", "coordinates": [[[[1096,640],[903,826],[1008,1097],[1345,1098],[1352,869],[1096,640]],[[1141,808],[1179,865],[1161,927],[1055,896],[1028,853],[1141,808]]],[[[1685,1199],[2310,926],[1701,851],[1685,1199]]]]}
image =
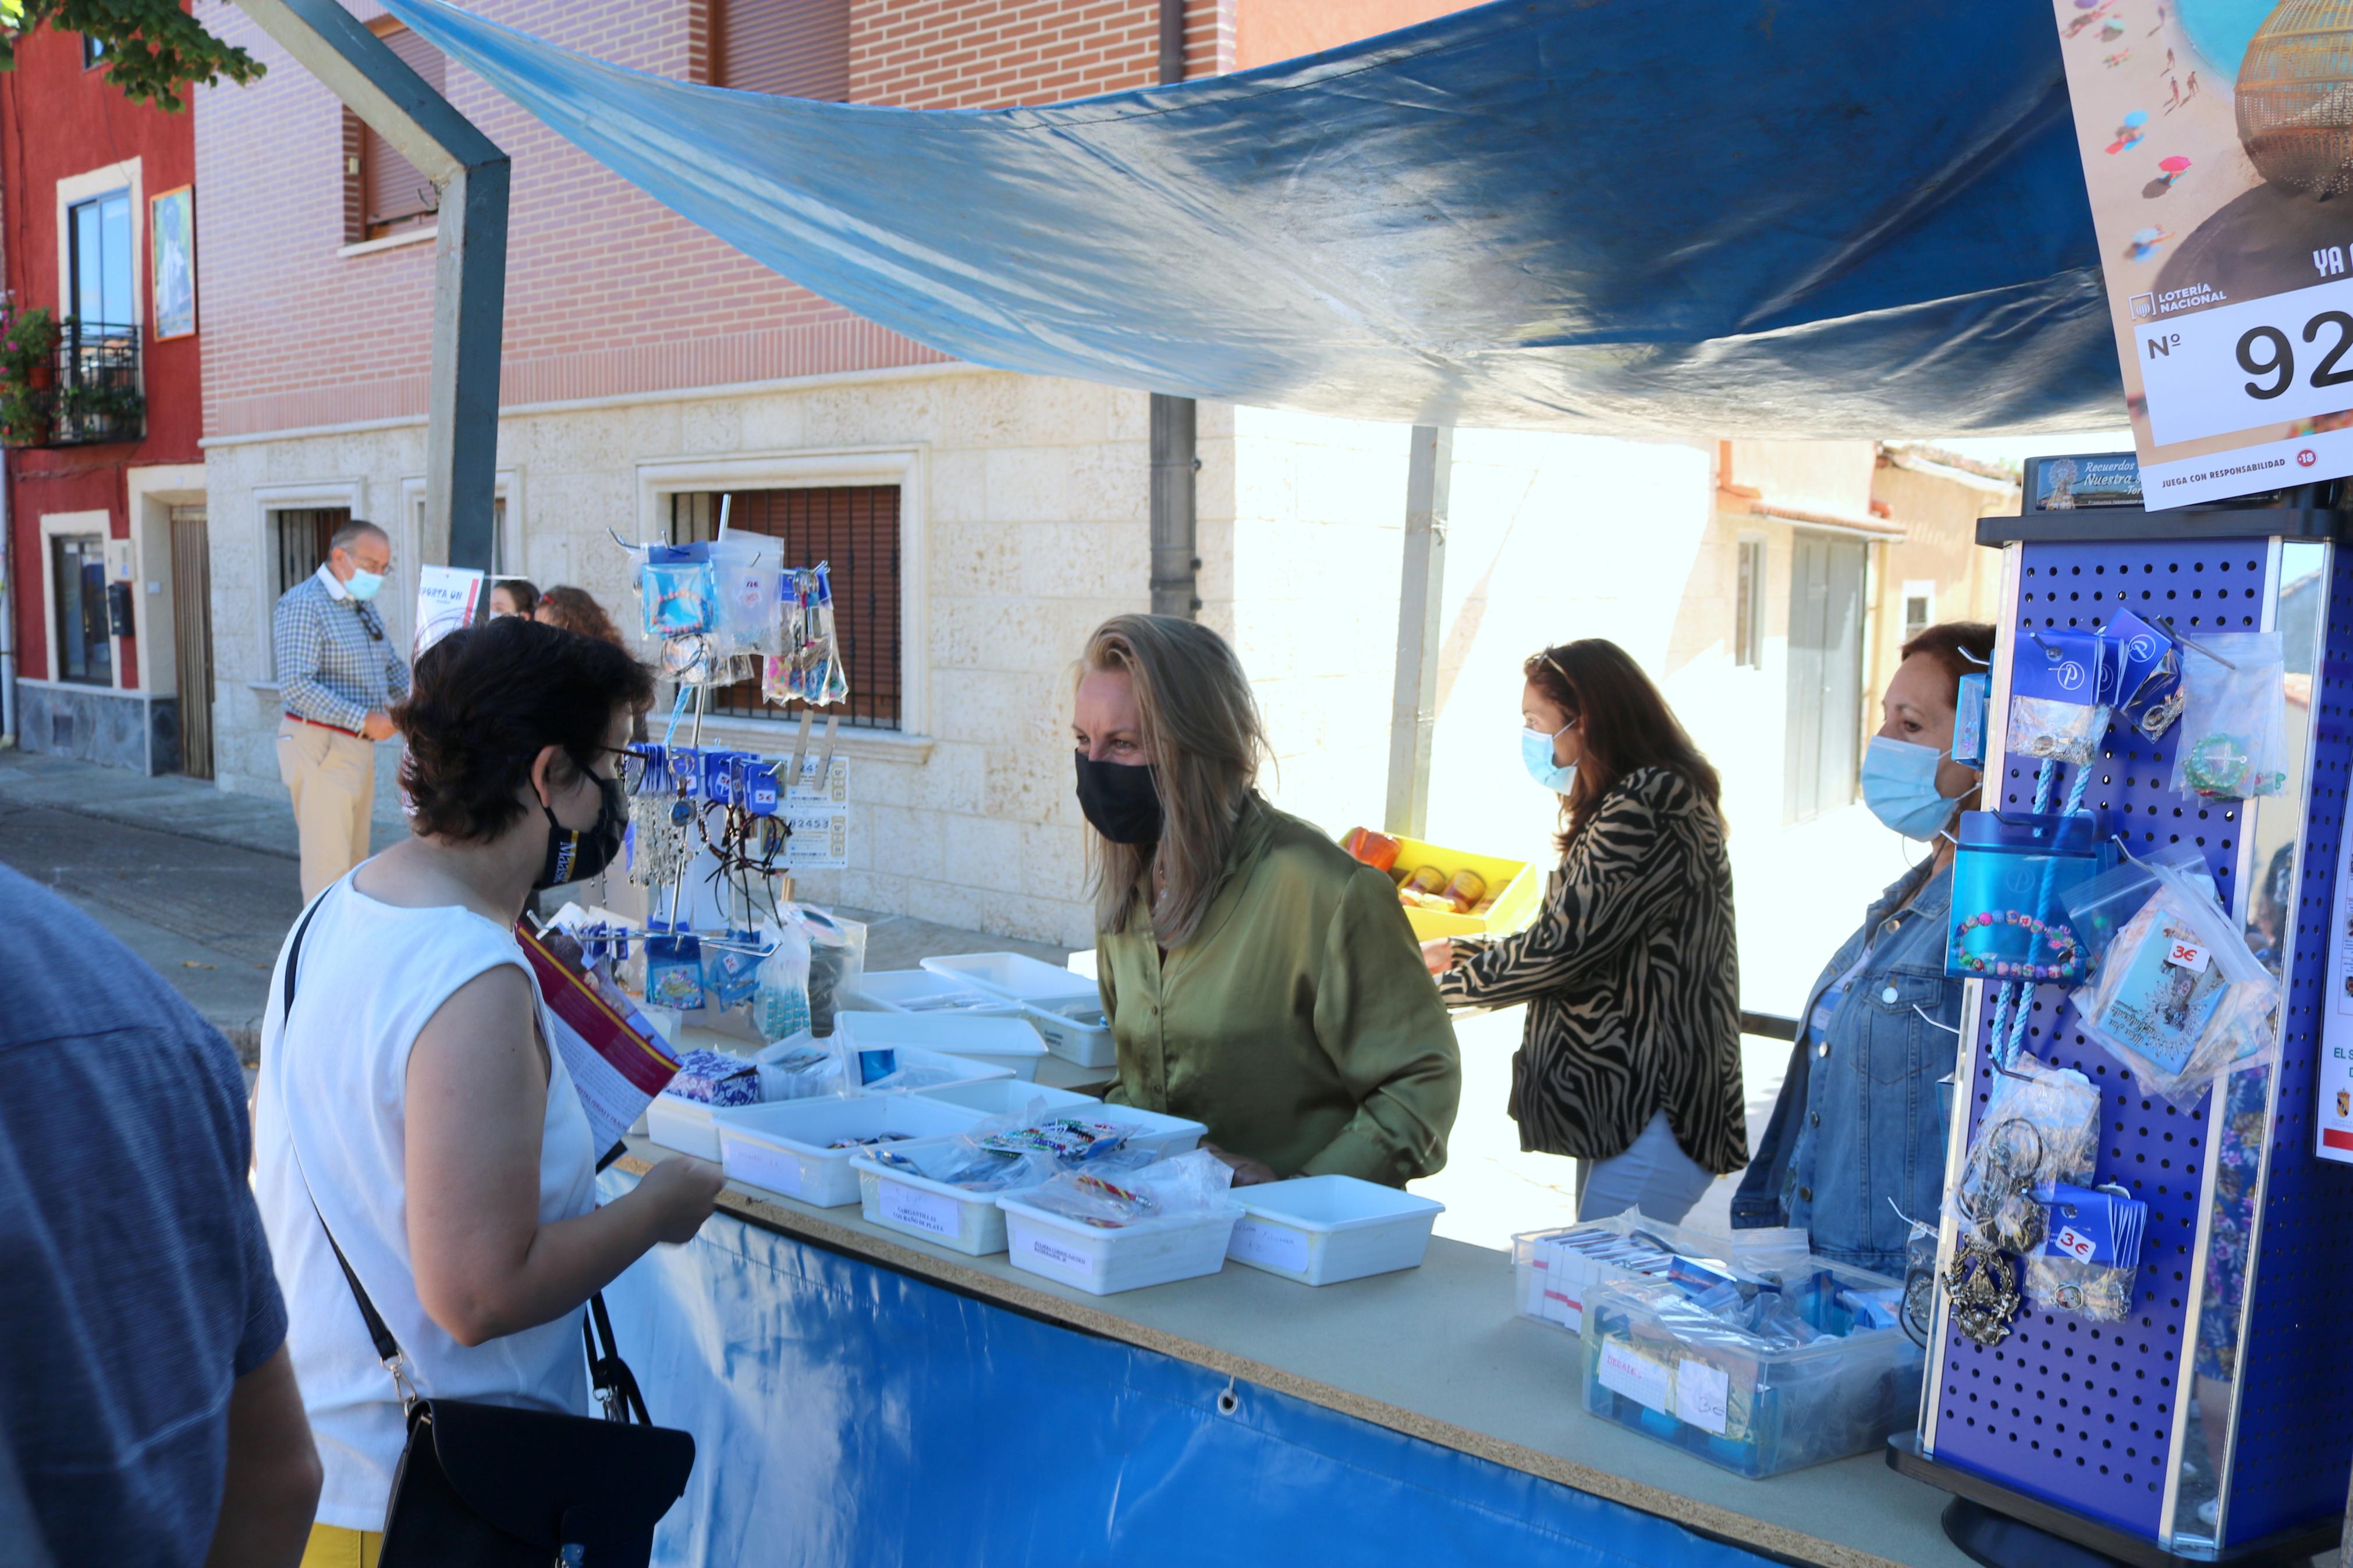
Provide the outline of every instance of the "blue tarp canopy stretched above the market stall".
{"type": "Polygon", "coordinates": [[[2125,414],[2047,0],[1497,0],[1005,110],[696,87],[386,5],[659,202],[976,364],[1593,435],[2125,414]]]}

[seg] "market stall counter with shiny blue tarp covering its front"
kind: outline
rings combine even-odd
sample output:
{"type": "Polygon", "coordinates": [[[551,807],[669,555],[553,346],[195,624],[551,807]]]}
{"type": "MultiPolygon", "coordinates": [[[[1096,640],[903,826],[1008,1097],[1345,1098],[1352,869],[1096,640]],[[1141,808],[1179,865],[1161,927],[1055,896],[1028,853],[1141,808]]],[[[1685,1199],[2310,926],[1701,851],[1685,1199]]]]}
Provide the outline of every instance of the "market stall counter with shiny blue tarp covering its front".
{"type": "MultiPolygon", "coordinates": [[[[605,1197],[661,1154],[633,1138],[605,1197]]],[[[729,1182],[607,1300],[699,1443],[661,1563],[1967,1563],[1878,1453],[1746,1481],[1586,1415],[1581,1342],[1447,1239],[1094,1298],[729,1182]]]]}

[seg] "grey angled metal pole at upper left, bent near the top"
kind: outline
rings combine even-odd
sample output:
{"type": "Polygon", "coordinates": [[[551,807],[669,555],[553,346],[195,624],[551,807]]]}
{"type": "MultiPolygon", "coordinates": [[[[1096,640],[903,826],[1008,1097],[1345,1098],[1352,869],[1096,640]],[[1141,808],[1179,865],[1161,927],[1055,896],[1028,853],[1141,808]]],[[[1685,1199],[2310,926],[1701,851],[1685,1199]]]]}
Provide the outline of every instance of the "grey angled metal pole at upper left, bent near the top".
{"type": "MultiPolygon", "coordinates": [[[[489,571],[506,317],[506,153],[336,0],[238,0],[238,7],[440,190],[419,552],[426,564],[489,571]]],[[[482,595],[480,614],[487,609],[489,595],[482,595]]]]}

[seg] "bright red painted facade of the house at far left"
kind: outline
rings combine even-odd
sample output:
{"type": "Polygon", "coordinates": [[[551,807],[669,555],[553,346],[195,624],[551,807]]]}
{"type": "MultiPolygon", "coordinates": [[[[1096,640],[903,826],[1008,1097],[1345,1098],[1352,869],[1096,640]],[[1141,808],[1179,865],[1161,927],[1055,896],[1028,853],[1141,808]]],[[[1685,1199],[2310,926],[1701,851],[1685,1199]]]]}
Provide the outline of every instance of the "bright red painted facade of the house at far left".
{"type": "MultiPolygon", "coordinates": [[[[181,110],[167,115],[148,103],[132,103],[106,85],[104,68],[82,68],[78,33],[40,28],[16,42],[16,68],[0,73],[0,240],[7,268],[0,284],[16,308],[47,306],[64,315],[64,292],[56,275],[56,181],[106,165],[139,160],[139,200],[195,181],[195,122],[181,110]]],[[[202,193],[198,193],[202,209],[202,193]]],[[[146,214],[139,214],[139,259],[134,268],[139,315],[151,315],[153,247],[146,214]]],[[[202,463],[202,324],[205,299],[195,301],[198,331],[158,343],[153,329],[141,336],[146,381],[144,442],[113,447],[64,447],[56,451],[9,451],[9,583],[16,609],[16,670],[33,679],[49,677],[49,646],[40,604],[40,517],[45,512],[111,515],[108,534],[129,538],[129,494],[125,468],[148,463],[202,463]]],[[[167,571],[167,567],[165,567],[167,571]]],[[[158,564],[148,564],[158,576],[158,564]]],[[[134,602],[144,602],[139,595],[134,602]]],[[[129,637],[115,639],[122,684],[136,682],[139,658],[129,637]]]]}

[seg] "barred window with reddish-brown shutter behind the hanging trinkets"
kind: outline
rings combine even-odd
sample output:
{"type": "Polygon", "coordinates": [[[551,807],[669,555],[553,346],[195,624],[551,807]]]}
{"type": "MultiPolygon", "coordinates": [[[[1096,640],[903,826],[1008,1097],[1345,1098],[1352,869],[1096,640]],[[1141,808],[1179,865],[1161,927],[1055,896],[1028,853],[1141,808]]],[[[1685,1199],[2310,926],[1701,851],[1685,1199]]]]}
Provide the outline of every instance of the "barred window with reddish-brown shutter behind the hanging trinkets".
{"type": "MultiPolygon", "coordinates": [[[[833,630],[849,670],[849,701],[835,712],[854,729],[899,729],[899,487],[739,489],[725,498],[729,534],[767,534],[786,567],[831,567],[833,630]]],[[[671,543],[718,538],[720,501],[718,491],[671,496],[671,543]]],[[[760,682],[713,689],[708,712],[776,717],[760,682]]]]}

